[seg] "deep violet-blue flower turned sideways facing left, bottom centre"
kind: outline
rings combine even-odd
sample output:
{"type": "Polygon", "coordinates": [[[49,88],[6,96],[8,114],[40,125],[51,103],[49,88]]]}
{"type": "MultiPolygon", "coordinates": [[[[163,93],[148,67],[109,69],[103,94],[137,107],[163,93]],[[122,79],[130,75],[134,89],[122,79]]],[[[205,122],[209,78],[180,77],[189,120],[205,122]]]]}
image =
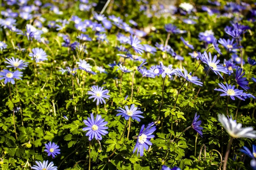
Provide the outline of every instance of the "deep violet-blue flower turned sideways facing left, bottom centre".
{"type": "Polygon", "coordinates": [[[148,150],[148,145],[152,145],[152,143],[150,142],[150,139],[154,138],[154,135],[151,135],[151,134],[154,133],[155,130],[157,130],[157,127],[153,125],[154,123],[150,123],[147,125],[145,129],[144,129],[145,125],[142,125],[140,129],[140,133],[138,135],[136,145],[133,150],[133,153],[135,153],[135,151],[137,150],[137,156],[139,152],[140,152],[140,156],[143,156],[144,148],[148,150]]]}

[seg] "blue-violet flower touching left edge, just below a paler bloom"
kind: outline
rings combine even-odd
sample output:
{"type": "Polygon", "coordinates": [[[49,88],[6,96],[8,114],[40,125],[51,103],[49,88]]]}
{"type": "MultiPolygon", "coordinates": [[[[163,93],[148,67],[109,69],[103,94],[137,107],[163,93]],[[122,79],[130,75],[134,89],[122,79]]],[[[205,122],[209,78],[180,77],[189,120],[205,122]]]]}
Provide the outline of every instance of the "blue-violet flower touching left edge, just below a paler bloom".
{"type": "Polygon", "coordinates": [[[11,82],[13,85],[15,84],[14,79],[21,79],[20,77],[22,77],[22,72],[21,71],[9,71],[6,69],[3,69],[3,72],[0,72],[0,80],[5,79],[4,80],[4,84],[7,84],[7,82],[11,82]]]}

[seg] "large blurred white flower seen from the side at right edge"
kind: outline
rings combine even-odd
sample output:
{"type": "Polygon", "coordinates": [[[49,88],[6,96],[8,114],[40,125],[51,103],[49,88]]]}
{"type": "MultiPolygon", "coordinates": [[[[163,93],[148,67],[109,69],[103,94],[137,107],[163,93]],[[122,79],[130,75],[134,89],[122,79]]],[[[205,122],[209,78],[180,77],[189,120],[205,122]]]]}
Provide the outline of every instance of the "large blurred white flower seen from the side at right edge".
{"type": "Polygon", "coordinates": [[[255,138],[256,131],[253,127],[242,127],[241,123],[236,123],[232,118],[227,119],[224,114],[218,114],[218,121],[227,130],[227,133],[233,138],[255,138]]]}

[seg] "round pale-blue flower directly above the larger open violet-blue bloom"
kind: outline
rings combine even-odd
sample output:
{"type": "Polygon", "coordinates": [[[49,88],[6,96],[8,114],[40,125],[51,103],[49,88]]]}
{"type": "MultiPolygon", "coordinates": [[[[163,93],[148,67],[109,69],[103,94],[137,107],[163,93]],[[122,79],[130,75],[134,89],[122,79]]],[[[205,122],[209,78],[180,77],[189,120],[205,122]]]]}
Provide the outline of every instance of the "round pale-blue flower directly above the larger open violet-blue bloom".
{"type": "Polygon", "coordinates": [[[107,95],[109,91],[103,90],[103,88],[104,87],[99,87],[98,85],[93,85],[92,90],[87,92],[88,94],[92,95],[89,97],[89,99],[94,98],[93,102],[95,102],[97,100],[96,105],[99,105],[99,102],[101,104],[102,104],[102,102],[104,104],[106,104],[105,99],[109,99],[109,97],[110,97],[109,95],[107,95]]]}

